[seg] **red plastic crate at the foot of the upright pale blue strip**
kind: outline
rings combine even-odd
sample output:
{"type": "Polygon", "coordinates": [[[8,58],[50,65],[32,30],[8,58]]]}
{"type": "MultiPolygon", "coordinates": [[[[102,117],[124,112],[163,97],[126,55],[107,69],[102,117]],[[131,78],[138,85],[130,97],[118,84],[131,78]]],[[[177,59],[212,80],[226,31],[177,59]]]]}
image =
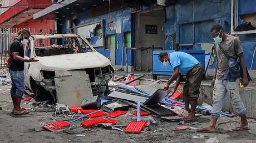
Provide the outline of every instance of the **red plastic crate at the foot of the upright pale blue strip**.
{"type": "Polygon", "coordinates": [[[124,129],[127,133],[140,133],[140,131],[146,126],[146,121],[131,121],[124,129]]]}

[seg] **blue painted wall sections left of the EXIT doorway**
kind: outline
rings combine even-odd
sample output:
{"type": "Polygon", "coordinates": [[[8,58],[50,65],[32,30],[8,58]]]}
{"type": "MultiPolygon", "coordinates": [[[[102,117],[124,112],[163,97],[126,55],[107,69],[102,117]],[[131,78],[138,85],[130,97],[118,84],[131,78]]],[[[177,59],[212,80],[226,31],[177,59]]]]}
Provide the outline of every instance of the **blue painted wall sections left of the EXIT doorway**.
{"type": "MultiPolygon", "coordinates": [[[[67,22],[67,19],[63,19],[62,33],[71,33],[70,23],[67,22]]],[[[117,11],[111,12],[111,18],[109,13],[101,14],[100,16],[93,17],[91,11],[86,11],[83,13],[77,14],[77,19],[73,21],[76,26],[84,25],[92,22],[102,21],[103,33],[105,35],[115,34],[116,42],[118,47],[116,49],[116,65],[121,65],[122,59],[122,47],[123,47],[123,33],[131,32],[131,13],[130,8],[119,9],[117,11]],[[120,30],[111,30],[107,24],[115,21],[116,29],[120,30]],[[120,52],[121,51],[121,52],[120,52]]],[[[110,50],[105,50],[104,47],[96,47],[97,52],[105,55],[105,57],[110,58],[110,50]]],[[[123,64],[125,65],[125,50],[123,53],[123,64]]],[[[129,50],[128,52],[128,65],[135,65],[135,53],[129,50]]]]}

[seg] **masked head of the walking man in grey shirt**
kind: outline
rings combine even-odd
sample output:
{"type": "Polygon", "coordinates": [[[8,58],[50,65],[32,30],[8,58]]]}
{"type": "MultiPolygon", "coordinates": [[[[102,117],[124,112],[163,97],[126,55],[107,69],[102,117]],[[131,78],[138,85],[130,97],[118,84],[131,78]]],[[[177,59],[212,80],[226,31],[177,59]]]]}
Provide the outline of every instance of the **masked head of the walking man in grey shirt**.
{"type": "Polygon", "coordinates": [[[213,27],[211,27],[210,33],[215,43],[220,43],[222,41],[224,31],[220,24],[214,24],[213,27]]]}

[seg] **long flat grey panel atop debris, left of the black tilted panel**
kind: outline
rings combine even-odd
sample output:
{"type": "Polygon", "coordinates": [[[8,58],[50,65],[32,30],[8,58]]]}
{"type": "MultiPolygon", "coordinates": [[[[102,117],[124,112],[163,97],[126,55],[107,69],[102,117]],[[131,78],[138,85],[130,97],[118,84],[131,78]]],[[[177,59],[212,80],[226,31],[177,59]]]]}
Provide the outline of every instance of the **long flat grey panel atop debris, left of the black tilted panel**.
{"type": "Polygon", "coordinates": [[[140,102],[140,103],[144,103],[146,101],[145,97],[121,93],[119,91],[113,91],[111,94],[109,94],[109,96],[112,98],[125,99],[125,100],[140,102]]]}

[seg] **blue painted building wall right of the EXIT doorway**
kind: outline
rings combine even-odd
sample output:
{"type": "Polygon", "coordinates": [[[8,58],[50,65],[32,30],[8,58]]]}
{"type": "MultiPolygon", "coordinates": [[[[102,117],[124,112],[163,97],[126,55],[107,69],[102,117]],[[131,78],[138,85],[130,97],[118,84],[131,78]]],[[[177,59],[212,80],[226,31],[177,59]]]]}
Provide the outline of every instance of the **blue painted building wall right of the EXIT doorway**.
{"type": "MultiPolygon", "coordinates": [[[[176,43],[193,44],[193,23],[195,25],[194,44],[214,43],[210,36],[210,28],[213,24],[221,24],[226,33],[230,34],[231,0],[219,2],[203,0],[184,0],[174,6],[166,7],[165,34],[176,33],[176,43]]],[[[242,14],[256,13],[255,0],[238,0],[239,16],[242,14]]],[[[242,20],[239,21],[239,24],[242,20]]],[[[250,68],[253,52],[256,44],[256,34],[239,35],[244,50],[247,68],[250,68]]],[[[170,40],[170,39],[166,39],[170,40]]],[[[166,41],[166,43],[169,43],[166,41]]],[[[198,49],[200,45],[181,46],[180,49],[198,49]]],[[[252,69],[256,69],[256,55],[252,69]]],[[[215,59],[216,61],[216,59],[215,59]]],[[[209,68],[215,68],[215,63],[209,68]]]]}

